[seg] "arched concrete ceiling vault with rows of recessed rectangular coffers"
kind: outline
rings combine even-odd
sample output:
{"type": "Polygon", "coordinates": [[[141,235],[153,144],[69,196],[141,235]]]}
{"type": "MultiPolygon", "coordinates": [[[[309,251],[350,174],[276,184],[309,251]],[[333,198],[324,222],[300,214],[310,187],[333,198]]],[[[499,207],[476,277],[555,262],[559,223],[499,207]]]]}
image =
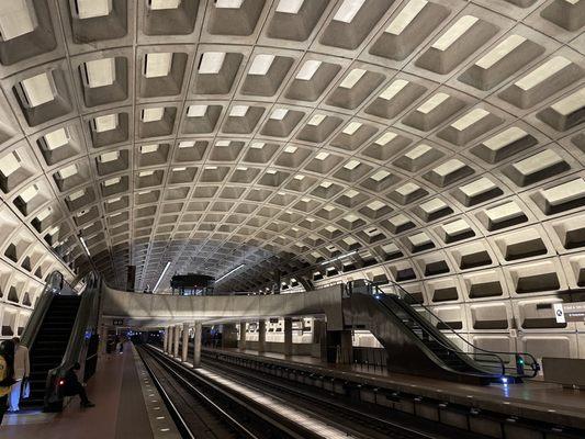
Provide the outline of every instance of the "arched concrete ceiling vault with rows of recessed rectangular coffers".
{"type": "Polygon", "coordinates": [[[167,261],[244,266],[225,289],[535,260],[578,284],[584,24],[583,0],[2,2],[3,221],[136,289],[167,261]]]}

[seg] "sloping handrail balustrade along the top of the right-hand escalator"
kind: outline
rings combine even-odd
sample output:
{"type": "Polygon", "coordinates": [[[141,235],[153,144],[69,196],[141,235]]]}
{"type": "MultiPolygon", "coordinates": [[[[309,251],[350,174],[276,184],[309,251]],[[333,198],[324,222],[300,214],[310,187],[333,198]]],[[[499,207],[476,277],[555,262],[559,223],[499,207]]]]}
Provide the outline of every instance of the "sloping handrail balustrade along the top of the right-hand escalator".
{"type": "MultiPolygon", "coordinates": [[[[384,290],[380,289],[379,284],[371,282],[367,279],[363,279],[363,282],[364,282],[364,288],[368,290],[367,292],[369,294],[372,294],[374,296],[387,294],[384,290]]],[[[531,353],[510,352],[510,351],[508,352],[492,351],[488,349],[480,348],[473,345],[472,342],[468,341],[463,336],[461,336],[461,334],[459,334],[455,329],[453,329],[448,323],[442,320],[437,314],[432,312],[432,309],[430,309],[421,301],[413,296],[402,285],[393,281],[390,281],[390,285],[393,289],[393,293],[391,294],[398,296],[407,305],[412,305],[413,309],[419,313],[418,315],[424,317],[428,325],[431,325],[432,327],[437,329],[446,330],[448,334],[451,334],[458,340],[461,340],[463,346],[470,349],[470,352],[466,352],[463,349],[461,349],[460,353],[469,356],[472,360],[481,363],[484,367],[494,368],[495,364],[497,364],[498,365],[497,369],[499,369],[499,364],[502,364],[503,367],[502,375],[509,374],[509,375],[515,375],[518,378],[535,378],[540,371],[540,364],[538,363],[537,359],[531,353]],[[502,358],[502,356],[506,356],[507,360],[502,358]],[[507,367],[506,364],[510,363],[513,360],[514,360],[514,367],[507,367]],[[529,368],[530,372],[527,373],[526,368],[529,368]]],[[[442,334],[440,330],[438,333],[442,334]]],[[[446,337],[446,340],[447,342],[449,342],[449,339],[447,337],[446,337]]],[[[438,341],[441,342],[440,340],[438,341]]],[[[446,344],[441,342],[441,345],[445,346],[446,344]]],[[[452,347],[446,346],[446,348],[452,350],[452,347]]]]}

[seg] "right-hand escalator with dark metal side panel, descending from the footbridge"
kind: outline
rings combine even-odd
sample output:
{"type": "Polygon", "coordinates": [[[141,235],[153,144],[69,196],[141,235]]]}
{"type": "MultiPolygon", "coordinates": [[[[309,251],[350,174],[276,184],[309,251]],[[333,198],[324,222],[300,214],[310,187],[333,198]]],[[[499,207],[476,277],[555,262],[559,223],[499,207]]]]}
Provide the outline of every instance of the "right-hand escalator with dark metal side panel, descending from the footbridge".
{"type": "Polygon", "coordinates": [[[391,371],[473,384],[519,382],[538,373],[529,353],[476,347],[400,285],[393,286],[387,294],[364,281],[348,285],[352,324],[357,319],[384,346],[391,371]]]}

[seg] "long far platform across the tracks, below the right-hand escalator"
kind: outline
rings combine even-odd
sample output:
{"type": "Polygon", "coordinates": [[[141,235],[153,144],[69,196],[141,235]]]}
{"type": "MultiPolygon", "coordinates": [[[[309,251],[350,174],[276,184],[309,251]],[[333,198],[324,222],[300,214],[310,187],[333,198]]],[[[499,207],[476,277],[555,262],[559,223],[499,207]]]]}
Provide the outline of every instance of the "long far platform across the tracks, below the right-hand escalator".
{"type": "Polygon", "coordinates": [[[239,350],[236,348],[204,348],[204,351],[338,378],[376,389],[385,389],[391,392],[502,414],[511,418],[525,418],[563,427],[585,429],[585,391],[563,389],[560,384],[526,381],[520,384],[477,386],[391,373],[380,367],[329,364],[307,356],[284,356],[273,352],[258,353],[256,350],[239,350]]]}

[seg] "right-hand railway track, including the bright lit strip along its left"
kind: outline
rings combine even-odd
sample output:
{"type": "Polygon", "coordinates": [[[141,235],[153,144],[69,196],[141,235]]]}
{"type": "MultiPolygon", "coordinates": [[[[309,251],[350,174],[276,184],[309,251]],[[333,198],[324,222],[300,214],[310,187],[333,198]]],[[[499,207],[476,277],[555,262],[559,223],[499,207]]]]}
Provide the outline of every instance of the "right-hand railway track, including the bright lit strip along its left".
{"type": "MultiPolygon", "coordinates": [[[[305,426],[304,432],[297,432],[302,438],[330,437],[330,438],[358,438],[358,439],[459,439],[481,438],[459,429],[438,426],[436,423],[417,418],[415,421],[408,416],[394,413],[389,416],[389,410],[364,410],[359,405],[316,391],[300,383],[283,382],[271,375],[239,368],[203,354],[204,367],[193,371],[179,362],[170,359],[156,348],[143,348],[150,356],[168,367],[182,370],[187,380],[203,380],[207,383],[223,384],[224,389],[246,394],[248,398],[262,401],[263,406],[258,407],[266,417],[277,418],[277,424],[282,425],[282,416],[289,417],[297,426],[305,426]],[[416,424],[416,425],[415,425],[416,424]],[[323,426],[327,428],[323,428],[323,426]]],[[[261,423],[260,423],[261,424],[261,423]]],[[[262,434],[260,428],[260,432],[262,434]]],[[[202,436],[203,437],[203,436],[202,436]]],[[[226,436],[227,437],[227,436],[226,436]]],[[[260,436],[284,438],[294,436],[260,436]]]]}

